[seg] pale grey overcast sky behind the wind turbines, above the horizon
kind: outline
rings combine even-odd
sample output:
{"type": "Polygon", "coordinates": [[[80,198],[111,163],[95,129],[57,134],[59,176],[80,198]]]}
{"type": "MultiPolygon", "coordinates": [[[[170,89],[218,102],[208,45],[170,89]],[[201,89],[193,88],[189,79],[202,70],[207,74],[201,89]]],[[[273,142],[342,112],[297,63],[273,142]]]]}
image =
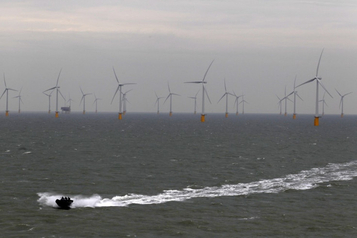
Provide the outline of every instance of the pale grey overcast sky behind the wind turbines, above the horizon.
{"type": "MultiPolygon", "coordinates": [[[[155,112],[156,92],[173,96],[172,111],[191,112],[201,85],[185,81],[206,76],[206,112],[225,112],[227,90],[244,94],[245,113],[278,113],[277,98],[312,79],[323,48],[319,76],[333,98],[326,95],[325,113],[357,114],[357,2],[355,0],[16,0],[0,1],[0,72],[9,88],[20,90],[22,111],[47,111],[43,91],[60,90],[81,111],[81,90],[95,93],[98,111],[119,111],[117,82],[126,85],[127,111],[155,112]]],[[[2,77],[1,77],[2,78],[2,77]]],[[[5,89],[0,80],[1,94],[5,89]]],[[[297,113],[315,112],[316,84],[297,88],[304,101],[297,113]]],[[[18,109],[9,91],[9,111],[18,109]]],[[[5,111],[6,95],[0,100],[5,111]]],[[[320,88],[322,99],[323,89],[320,88]]],[[[293,97],[291,97],[293,99],[293,97]]],[[[86,97],[86,111],[94,111],[94,95],[86,97]]],[[[234,97],[228,111],[235,112],[234,97]]],[[[169,100],[160,111],[169,111],[169,100]]],[[[59,105],[65,101],[59,99],[59,105]]],[[[242,105],[240,105],[240,111],[242,105]]],[[[55,111],[55,94],[51,97],[55,111]]],[[[283,109],[284,111],[284,109],[283,109]]],[[[320,113],[321,113],[320,106],[320,113]]],[[[292,102],[288,113],[293,112],[292,102]]]]}

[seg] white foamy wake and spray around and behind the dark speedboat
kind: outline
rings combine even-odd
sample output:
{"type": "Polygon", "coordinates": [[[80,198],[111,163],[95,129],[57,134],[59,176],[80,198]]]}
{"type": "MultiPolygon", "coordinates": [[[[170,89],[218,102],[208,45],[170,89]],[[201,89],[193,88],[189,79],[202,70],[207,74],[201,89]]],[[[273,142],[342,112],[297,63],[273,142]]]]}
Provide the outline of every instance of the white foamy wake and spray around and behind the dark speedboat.
{"type": "MultiPolygon", "coordinates": [[[[148,196],[129,194],[115,196],[112,199],[102,198],[95,194],[90,197],[82,195],[75,197],[72,208],[76,207],[100,207],[100,206],[128,206],[130,204],[160,204],[171,201],[185,201],[197,197],[218,197],[249,195],[253,193],[278,193],[285,190],[308,190],[319,187],[323,182],[350,180],[357,176],[357,160],[328,164],[324,168],[313,168],[301,171],[298,174],[286,175],[280,178],[260,180],[250,183],[223,185],[220,187],[206,187],[203,189],[164,190],[162,193],[148,196]]],[[[38,202],[44,206],[58,207],[55,200],[64,195],[49,192],[37,193],[38,202]]]]}

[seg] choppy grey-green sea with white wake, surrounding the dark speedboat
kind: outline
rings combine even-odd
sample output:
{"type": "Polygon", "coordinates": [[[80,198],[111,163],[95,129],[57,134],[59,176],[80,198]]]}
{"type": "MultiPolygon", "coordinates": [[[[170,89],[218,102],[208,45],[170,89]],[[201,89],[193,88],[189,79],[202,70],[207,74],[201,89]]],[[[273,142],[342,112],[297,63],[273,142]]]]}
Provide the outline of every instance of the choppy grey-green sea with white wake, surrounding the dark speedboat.
{"type": "Polygon", "coordinates": [[[0,115],[1,236],[357,236],[356,115],[199,117],[0,115]]]}

